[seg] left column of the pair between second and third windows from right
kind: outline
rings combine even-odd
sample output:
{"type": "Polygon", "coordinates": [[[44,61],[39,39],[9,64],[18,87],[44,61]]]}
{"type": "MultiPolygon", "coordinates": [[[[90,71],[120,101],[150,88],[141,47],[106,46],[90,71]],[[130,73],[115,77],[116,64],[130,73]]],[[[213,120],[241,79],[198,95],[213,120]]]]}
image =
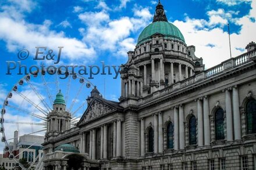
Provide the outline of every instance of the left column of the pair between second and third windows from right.
{"type": "Polygon", "coordinates": [[[204,122],[202,120],[202,101],[197,99],[197,128],[198,128],[198,146],[204,146],[204,122]]]}

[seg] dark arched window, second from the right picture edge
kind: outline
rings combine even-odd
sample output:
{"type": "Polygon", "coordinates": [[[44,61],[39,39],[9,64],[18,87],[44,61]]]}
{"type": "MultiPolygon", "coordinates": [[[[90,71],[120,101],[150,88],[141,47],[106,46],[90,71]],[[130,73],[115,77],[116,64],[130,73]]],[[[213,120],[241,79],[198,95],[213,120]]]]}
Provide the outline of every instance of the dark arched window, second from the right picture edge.
{"type": "Polygon", "coordinates": [[[224,111],[222,108],[218,108],[215,111],[215,140],[225,139],[224,134],[224,111]]]}

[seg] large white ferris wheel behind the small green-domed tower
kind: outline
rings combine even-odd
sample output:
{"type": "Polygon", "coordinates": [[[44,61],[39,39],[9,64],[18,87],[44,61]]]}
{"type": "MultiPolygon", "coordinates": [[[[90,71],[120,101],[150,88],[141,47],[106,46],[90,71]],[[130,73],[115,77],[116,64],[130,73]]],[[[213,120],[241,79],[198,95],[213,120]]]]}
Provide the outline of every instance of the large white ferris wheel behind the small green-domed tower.
{"type": "Polygon", "coordinates": [[[55,72],[49,70],[49,73],[46,73],[45,70],[40,70],[25,75],[13,85],[3,102],[0,119],[1,140],[5,143],[4,153],[16,162],[15,167],[30,169],[35,163],[39,164],[42,161],[40,160],[42,155],[37,154],[32,155],[35,158],[29,160],[28,168],[19,162],[23,152],[33,146],[40,146],[41,143],[23,145],[23,150],[18,153],[12,146],[15,146],[15,140],[24,135],[45,136],[47,117],[53,109],[55,95],[60,89],[65,97],[67,112],[72,117],[71,128],[76,126],[87,107],[86,94],[94,88],[94,85],[80,74],[63,70],[55,70],[55,72]],[[65,75],[66,78],[61,78],[61,75],[65,75]],[[14,131],[18,133],[16,136],[13,136],[14,131]]]}

